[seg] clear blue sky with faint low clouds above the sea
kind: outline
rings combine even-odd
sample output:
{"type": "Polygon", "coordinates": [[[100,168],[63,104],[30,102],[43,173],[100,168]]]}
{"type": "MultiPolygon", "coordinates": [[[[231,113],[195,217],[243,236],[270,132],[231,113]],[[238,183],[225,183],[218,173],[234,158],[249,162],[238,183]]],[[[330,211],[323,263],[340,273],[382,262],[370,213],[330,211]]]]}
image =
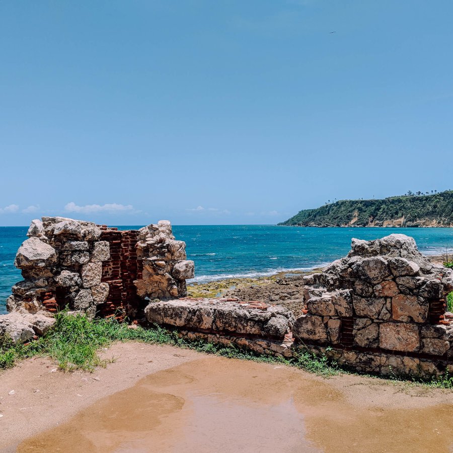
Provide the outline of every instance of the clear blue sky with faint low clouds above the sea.
{"type": "Polygon", "coordinates": [[[452,16],[449,0],[0,2],[0,225],[276,223],[453,188],[452,16]]]}

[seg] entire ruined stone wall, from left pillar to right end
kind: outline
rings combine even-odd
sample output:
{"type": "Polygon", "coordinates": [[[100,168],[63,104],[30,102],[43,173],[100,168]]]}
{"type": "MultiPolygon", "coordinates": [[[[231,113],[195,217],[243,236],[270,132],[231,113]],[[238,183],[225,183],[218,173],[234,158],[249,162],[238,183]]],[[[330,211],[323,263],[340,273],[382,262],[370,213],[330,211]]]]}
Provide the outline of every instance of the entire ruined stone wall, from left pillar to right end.
{"type": "Polygon", "coordinates": [[[90,317],[145,317],[189,339],[258,353],[309,349],[364,372],[453,373],[453,315],[445,313],[453,271],[432,264],[405,235],[353,239],[346,257],[304,277],[305,309],[296,319],[259,301],[185,297],[194,264],[168,221],[118,231],[43,217],[28,236],[16,257],[24,280],[8,298],[12,313],[0,316],[0,332],[18,342],[45,333],[51,314],[68,305],[90,317]]]}

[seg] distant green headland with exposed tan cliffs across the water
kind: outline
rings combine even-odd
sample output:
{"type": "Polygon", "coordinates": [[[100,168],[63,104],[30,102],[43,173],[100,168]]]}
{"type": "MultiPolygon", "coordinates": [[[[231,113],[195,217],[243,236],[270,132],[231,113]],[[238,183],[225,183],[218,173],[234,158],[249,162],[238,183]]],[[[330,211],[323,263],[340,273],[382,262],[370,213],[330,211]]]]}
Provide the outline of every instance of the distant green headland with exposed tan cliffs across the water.
{"type": "Polygon", "coordinates": [[[453,226],[453,190],[412,192],[383,200],[339,200],[304,209],[286,226],[453,226]]]}

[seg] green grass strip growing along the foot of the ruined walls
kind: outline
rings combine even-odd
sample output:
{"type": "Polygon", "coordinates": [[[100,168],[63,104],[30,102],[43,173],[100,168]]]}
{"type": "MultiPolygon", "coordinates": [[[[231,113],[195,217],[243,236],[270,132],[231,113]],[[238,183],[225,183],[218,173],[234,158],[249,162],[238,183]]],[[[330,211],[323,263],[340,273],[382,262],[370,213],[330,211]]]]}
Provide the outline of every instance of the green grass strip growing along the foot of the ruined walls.
{"type": "MultiPolygon", "coordinates": [[[[326,356],[318,357],[309,351],[301,350],[296,356],[288,359],[273,357],[240,349],[234,345],[227,347],[203,340],[189,341],[179,338],[176,330],[167,330],[159,326],[148,329],[141,327],[131,329],[127,324],[118,323],[115,320],[96,319],[90,321],[84,316],[69,316],[65,312],[56,316],[56,323],[47,335],[26,345],[13,345],[8,337],[0,337],[0,369],[12,367],[24,358],[41,355],[50,357],[60,369],[65,371],[75,369],[92,371],[96,366],[106,366],[107,363],[114,360],[100,358],[98,353],[102,347],[106,347],[114,341],[127,340],[150,344],[169,344],[228,358],[281,363],[325,377],[340,372],[354,373],[350,369],[338,366],[326,356]]],[[[416,379],[408,381],[397,376],[391,376],[391,379],[405,381],[408,385],[421,384],[431,388],[453,389],[453,378],[448,375],[429,382],[416,379]]]]}

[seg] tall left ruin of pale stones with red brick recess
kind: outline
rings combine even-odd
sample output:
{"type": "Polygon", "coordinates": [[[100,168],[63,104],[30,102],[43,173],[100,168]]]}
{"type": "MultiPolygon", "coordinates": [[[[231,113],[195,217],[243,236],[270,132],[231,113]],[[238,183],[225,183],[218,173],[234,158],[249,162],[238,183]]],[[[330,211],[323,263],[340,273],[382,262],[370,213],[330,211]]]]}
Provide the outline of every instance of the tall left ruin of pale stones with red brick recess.
{"type": "Polygon", "coordinates": [[[144,317],[149,299],[185,296],[185,280],[194,275],[185,243],[175,240],[166,220],[118,231],[43,217],[32,221],[27,236],[15,260],[24,279],[7,299],[11,313],[0,317],[0,330],[19,332],[25,322],[25,336],[37,331],[35,320],[51,325],[51,315],[65,307],[89,317],[144,317]]]}

